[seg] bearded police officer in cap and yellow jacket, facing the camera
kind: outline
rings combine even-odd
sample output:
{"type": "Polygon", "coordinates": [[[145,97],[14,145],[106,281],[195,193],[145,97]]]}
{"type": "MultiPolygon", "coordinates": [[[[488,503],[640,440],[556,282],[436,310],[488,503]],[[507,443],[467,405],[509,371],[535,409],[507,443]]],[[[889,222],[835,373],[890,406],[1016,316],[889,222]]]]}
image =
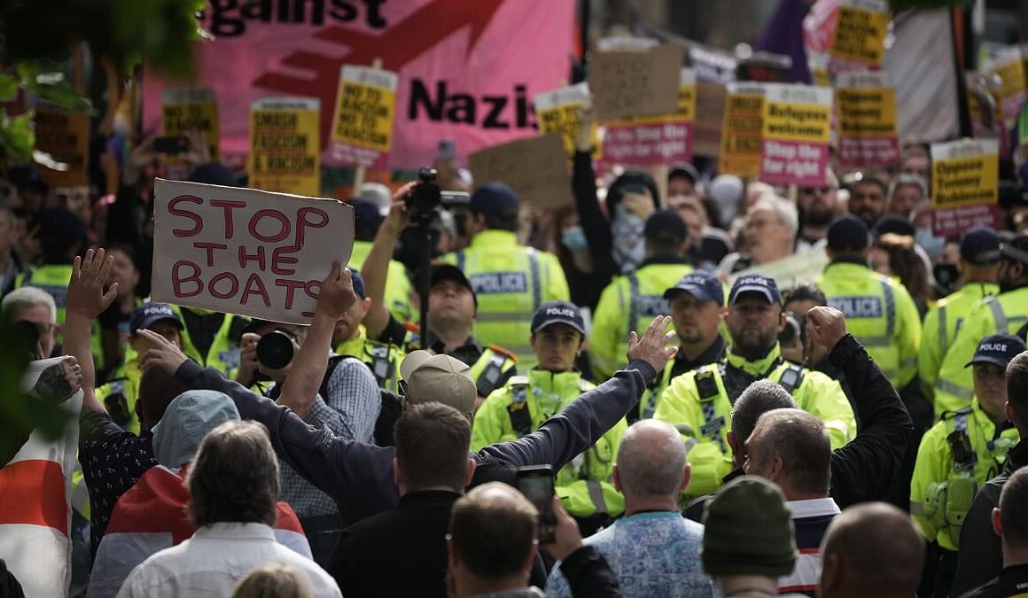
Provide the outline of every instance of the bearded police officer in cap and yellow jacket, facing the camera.
{"type": "Polygon", "coordinates": [[[801,409],[824,422],[833,448],[856,434],[853,410],[839,382],[781,359],[778,333],[784,325],[774,279],[740,276],[729,295],[727,357],[674,378],[661,396],[654,417],[676,426],[689,447],[693,476],[687,497],[717,490],[732,471],[727,440],[732,406],[756,380],[768,378],[788,390],[801,409]]]}

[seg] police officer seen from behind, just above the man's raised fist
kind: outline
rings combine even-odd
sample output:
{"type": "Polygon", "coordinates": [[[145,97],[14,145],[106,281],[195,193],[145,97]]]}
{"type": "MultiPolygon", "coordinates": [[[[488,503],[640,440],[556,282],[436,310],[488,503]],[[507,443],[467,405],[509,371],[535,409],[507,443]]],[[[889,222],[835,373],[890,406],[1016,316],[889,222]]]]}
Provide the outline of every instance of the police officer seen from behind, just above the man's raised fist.
{"type": "Polygon", "coordinates": [[[837,218],[828,234],[832,262],[817,286],[829,306],[843,312],[850,332],[900,389],[917,375],[921,319],[903,285],[868,267],[870,240],[860,218],[837,218]]]}

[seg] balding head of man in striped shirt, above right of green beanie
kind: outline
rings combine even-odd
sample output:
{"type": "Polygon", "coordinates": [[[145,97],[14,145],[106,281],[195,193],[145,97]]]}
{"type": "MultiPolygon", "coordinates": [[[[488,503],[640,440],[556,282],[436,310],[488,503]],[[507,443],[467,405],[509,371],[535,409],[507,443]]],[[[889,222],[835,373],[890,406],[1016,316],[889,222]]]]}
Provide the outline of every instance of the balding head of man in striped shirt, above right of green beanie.
{"type": "Polygon", "coordinates": [[[813,415],[801,409],[768,411],[745,446],[746,473],[775,482],[790,500],[829,495],[832,445],[813,415]]]}

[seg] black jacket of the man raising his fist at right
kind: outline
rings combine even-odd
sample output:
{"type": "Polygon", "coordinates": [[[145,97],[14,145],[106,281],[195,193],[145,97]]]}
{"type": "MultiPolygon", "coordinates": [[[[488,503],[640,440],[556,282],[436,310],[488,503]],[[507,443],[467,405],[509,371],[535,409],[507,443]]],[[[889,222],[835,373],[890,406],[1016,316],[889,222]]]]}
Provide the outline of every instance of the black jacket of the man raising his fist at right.
{"type": "MultiPolygon", "coordinates": [[[[888,493],[913,432],[910,415],[892,383],[851,334],[832,349],[829,363],[849,381],[860,422],[856,438],[832,451],[831,496],[845,509],[857,502],[881,500],[888,493]]],[[[735,471],[727,482],[738,476],[735,471]]],[[[686,517],[700,521],[705,496],[686,508],[686,517]]]]}

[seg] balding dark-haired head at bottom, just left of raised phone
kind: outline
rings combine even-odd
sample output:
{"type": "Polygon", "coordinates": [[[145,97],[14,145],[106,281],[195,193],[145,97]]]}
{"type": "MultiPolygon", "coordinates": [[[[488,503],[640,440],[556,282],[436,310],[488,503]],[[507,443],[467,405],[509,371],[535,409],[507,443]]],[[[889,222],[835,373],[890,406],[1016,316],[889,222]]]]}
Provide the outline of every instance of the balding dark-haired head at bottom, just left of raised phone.
{"type": "Polygon", "coordinates": [[[527,574],[538,517],[531,502],[507,484],[489,482],[474,488],[453,504],[451,564],[458,561],[482,578],[527,574]]]}

